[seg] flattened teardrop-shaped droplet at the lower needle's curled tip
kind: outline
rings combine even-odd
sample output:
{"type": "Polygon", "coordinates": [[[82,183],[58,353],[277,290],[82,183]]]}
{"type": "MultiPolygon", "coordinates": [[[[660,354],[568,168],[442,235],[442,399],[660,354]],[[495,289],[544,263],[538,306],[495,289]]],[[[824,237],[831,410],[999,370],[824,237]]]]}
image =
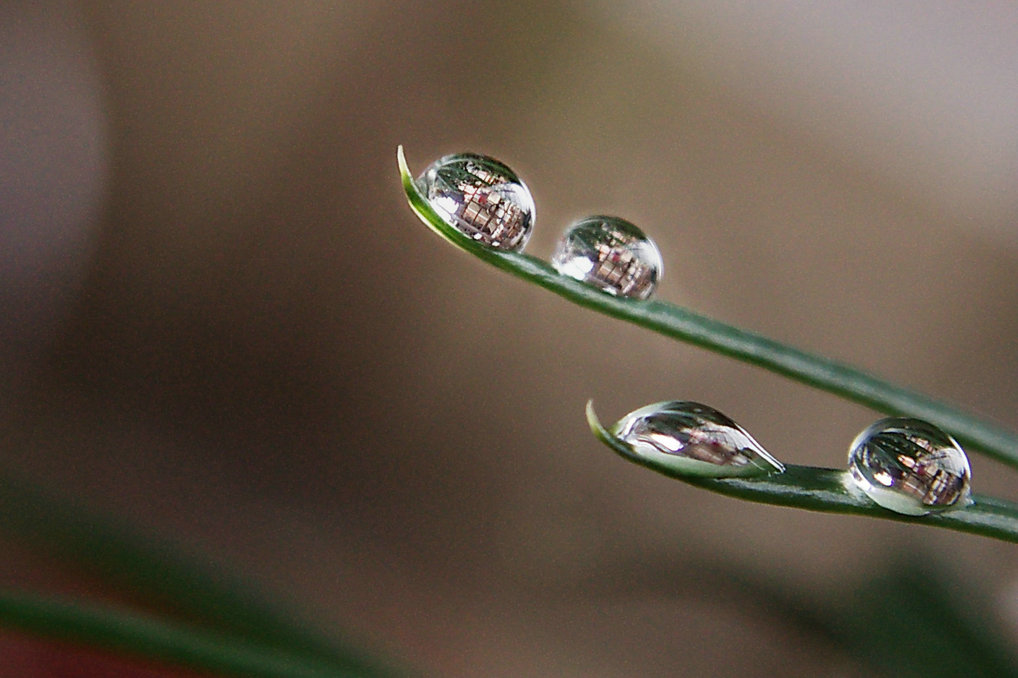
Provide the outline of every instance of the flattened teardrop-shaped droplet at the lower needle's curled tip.
{"type": "Polygon", "coordinates": [[[619,419],[609,433],[635,456],[686,475],[726,477],[785,470],[752,436],[713,407],[659,402],[619,419]]]}

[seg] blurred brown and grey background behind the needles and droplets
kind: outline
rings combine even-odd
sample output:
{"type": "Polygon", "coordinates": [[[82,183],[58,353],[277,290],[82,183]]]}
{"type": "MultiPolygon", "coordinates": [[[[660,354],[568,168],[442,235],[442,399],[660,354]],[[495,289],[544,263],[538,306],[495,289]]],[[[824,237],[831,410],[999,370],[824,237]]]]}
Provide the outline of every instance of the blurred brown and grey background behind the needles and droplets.
{"type": "MultiPolygon", "coordinates": [[[[600,446],[591,397],[705,402],[828,466],[876,414],[452,249],[395,160],[493,155],[534,194],[528,251],[618,214],[660,298],[1018,428],[1014,5],[15,0],[0,121],[5,471],[431,675],[869,675],[725,573],[845,601],[903,555],[1018,639],[1012,546],[600,446]]],[[[119,600],[2,523],[3,585],[119,600]]]]}

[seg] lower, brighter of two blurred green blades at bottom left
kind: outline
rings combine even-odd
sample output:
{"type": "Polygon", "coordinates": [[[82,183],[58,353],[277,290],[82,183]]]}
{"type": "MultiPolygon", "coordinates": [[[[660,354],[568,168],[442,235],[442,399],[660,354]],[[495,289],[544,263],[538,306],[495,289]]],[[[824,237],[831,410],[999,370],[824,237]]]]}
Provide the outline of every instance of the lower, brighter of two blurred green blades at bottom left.
{"type": "Polygon", "coordinates": [[[108,607],[0,591],[0,626],[219,675],[336,678],[359,673],[317,659],[108,607]]]}

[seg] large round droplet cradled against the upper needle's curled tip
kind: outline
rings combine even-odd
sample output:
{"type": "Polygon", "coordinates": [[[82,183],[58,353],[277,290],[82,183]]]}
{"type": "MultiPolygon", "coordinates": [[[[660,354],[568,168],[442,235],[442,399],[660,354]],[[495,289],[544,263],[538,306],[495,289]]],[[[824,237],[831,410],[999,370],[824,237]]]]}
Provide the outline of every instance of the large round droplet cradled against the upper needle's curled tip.
{"type": "Polygon", "coordinates": [[[432,163],[417,179],[432,208],[461,233],[497,249],[520,251],[533,230],[533,199],[511,169],[461,153],[432,163]]]}

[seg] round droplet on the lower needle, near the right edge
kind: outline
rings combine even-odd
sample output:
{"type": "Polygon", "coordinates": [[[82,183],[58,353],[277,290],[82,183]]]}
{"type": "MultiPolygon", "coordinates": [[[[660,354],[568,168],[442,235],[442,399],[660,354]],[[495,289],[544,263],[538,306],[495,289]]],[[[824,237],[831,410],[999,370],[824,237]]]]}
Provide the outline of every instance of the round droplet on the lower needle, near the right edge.
{"type": "Polygon", "coordinates": [[[924,515],[970,502],[972,471],[954,438],[921,419],[881,419],[856,436],[848,468],[867,497],[898,513],[924,515]]]}

